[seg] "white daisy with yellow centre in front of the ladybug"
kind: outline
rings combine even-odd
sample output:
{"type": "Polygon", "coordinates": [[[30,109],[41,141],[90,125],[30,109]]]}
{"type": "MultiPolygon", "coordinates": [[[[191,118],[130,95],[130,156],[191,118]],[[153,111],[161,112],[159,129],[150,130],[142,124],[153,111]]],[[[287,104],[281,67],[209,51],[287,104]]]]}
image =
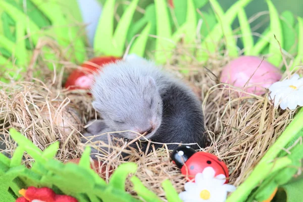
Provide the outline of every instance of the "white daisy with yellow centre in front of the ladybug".
{"type": "Polygon", "coordinates": [[[197,173],[195,182],[186,182],[185,191],[179,194],[184,202],[224,202],[227,192],[234,191],[235,186],[224,184],[225,175],[220,174],[215,177],[215,170],[206,167],[202,173],[197,173]]]}

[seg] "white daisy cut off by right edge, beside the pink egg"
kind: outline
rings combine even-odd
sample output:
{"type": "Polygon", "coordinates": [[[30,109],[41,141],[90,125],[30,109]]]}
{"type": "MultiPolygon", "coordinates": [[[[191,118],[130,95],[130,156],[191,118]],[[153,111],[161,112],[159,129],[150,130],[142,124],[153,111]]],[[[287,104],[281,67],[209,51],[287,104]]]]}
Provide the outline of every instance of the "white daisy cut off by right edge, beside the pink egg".
{"type": "Polygon", "coordinates": [[[282,110],[294,110],[297,106],[303,106],[303,78],[297,74],[290,79],[275,82],[269,90],[269,98],[274,100],[275,107],[280,104],[282,110]]]}

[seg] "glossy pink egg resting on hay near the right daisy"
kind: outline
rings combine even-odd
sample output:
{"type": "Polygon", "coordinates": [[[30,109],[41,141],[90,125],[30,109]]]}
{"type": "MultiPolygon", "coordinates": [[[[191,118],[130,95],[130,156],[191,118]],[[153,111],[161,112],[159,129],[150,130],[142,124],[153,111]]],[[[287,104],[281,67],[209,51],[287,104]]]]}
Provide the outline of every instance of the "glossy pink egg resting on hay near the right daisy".
{"type": "MultiPolygon", "coordinates": [[[[223,67],[220,82],[262,95],[281,77],[281,71],[269,62],[255,56],[241,56],[223,67]]],[[[245,96],[245,93],[239,92],[239,96],[245,96]]]]}

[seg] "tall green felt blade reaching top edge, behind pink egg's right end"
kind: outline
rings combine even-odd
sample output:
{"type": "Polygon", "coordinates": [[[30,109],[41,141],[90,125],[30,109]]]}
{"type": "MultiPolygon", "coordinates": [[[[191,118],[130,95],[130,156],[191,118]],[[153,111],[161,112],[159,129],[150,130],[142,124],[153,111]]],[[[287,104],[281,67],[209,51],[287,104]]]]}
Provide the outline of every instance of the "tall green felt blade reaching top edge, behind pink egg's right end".
{"type": "Polygon", "coordinates": [[[283,44],[284,44],[283,32],[282,32],[278,11],[276,10],[275,6],[270,0],[266,0],[266,2],[269,8],[270,30],[273,33],[271,35],[270,38],[271,42],[269,45],[269,52],[273,55],[268,58],[268,62],[272,63],[275,66],[278,66],[282,61],[282,56],[281,56],[278,41],[281,45],[281,48],[283,48],[283,44]],[[276,39],[274,35],[276,36],[276,39]]]}

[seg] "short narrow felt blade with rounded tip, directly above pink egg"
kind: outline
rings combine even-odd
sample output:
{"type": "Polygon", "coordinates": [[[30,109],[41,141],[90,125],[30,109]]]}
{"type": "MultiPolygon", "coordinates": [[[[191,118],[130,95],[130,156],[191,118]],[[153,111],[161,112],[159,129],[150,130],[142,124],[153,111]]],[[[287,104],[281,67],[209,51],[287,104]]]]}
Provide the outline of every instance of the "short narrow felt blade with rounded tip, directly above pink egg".
{"type": "Polygon", "coordinates": [[[244,55],[249,56],[252,47],[254,47],[254,38],[244,9],[239,9],[238,20],[241,27],[242,41],[244,45],[244,55]]]}

